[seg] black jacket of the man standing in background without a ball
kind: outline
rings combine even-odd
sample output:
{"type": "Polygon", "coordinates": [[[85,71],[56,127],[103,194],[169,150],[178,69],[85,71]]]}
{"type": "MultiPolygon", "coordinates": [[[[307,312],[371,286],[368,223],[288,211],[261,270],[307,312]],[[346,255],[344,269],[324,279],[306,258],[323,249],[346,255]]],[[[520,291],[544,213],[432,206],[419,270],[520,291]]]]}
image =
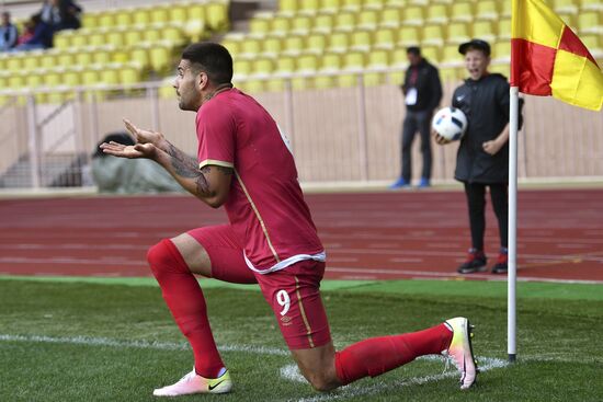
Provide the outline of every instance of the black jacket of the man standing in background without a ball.
{"type": "Polygon", "coordinates": [[[410,88],[417,88],[417,104],[407,105],[407,110],[411,112],[433,111],[442,100],[442,82],[437,69],[426,59],[422,59],[419,65],[410,66],[406,70],[405,83],[401,87],[406,94],[410,88]],[[412,71],[419,69],[417,82],[410,84],[412,71]]]}

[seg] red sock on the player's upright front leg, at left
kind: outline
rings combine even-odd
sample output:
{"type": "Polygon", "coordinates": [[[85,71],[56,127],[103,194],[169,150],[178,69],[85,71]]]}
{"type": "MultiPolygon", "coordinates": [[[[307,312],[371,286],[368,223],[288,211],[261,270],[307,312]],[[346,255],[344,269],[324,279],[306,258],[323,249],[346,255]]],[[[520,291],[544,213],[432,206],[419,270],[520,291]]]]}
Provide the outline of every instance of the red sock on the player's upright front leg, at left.
{"type": "Polygon", "coordinates": [[[193,347],[196,374],[217,378],[224,363],[207,320],[205,297],[195,276],[168,239],[153,245],[147,260],[180,331],[193,347]]]}

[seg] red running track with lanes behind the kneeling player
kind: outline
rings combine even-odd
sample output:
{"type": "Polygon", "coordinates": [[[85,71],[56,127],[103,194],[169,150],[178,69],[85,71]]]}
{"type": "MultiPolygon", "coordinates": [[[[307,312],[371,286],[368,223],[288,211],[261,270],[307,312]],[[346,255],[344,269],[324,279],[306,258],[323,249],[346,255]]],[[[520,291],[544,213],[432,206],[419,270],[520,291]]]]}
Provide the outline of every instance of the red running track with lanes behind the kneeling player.
{"type": "MultiPolygon", "coordinates": [[[[327,278],[459,277],[469,246],[462,192],[310,194],[307,202],[327,250],[327,278]]],[[[520,279],[603,283],[603,189],[521,191],[517,216],[520,279]]],[[[0,274],[148,276],[150,245],[225,221],[224,210],[190,196],[4,199],[0,274]]],[[[490,205],[487,226],[492,264],[499,245],[490,205]]]]}

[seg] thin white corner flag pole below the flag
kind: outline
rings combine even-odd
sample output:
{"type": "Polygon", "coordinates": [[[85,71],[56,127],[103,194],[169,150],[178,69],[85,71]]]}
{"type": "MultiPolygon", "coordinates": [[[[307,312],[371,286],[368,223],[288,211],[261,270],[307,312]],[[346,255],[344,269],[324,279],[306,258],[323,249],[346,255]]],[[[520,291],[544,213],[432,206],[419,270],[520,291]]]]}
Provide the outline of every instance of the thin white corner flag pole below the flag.
{"type": "Polygon", "coordinates": [[[509,110],[509,273],[507,278],[507,352],[509,361],[516,357],[516,255],[517,255],[517,122],[520,90],[511,87],[509,110]]]}

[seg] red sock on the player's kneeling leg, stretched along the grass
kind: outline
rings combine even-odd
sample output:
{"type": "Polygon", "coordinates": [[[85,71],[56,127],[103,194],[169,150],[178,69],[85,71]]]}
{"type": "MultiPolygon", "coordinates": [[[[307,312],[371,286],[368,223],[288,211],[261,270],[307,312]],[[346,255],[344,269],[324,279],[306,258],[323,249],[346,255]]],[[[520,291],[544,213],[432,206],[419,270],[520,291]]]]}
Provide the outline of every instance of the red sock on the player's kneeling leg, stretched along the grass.
{"type": "Polygon", "coordinates": [[[419,356],[448,348],[452,331],[445,324],[409,334],[372,337],[335,353],[337,376],[348,384],[366,376],[376,377],[419,356]]]}

